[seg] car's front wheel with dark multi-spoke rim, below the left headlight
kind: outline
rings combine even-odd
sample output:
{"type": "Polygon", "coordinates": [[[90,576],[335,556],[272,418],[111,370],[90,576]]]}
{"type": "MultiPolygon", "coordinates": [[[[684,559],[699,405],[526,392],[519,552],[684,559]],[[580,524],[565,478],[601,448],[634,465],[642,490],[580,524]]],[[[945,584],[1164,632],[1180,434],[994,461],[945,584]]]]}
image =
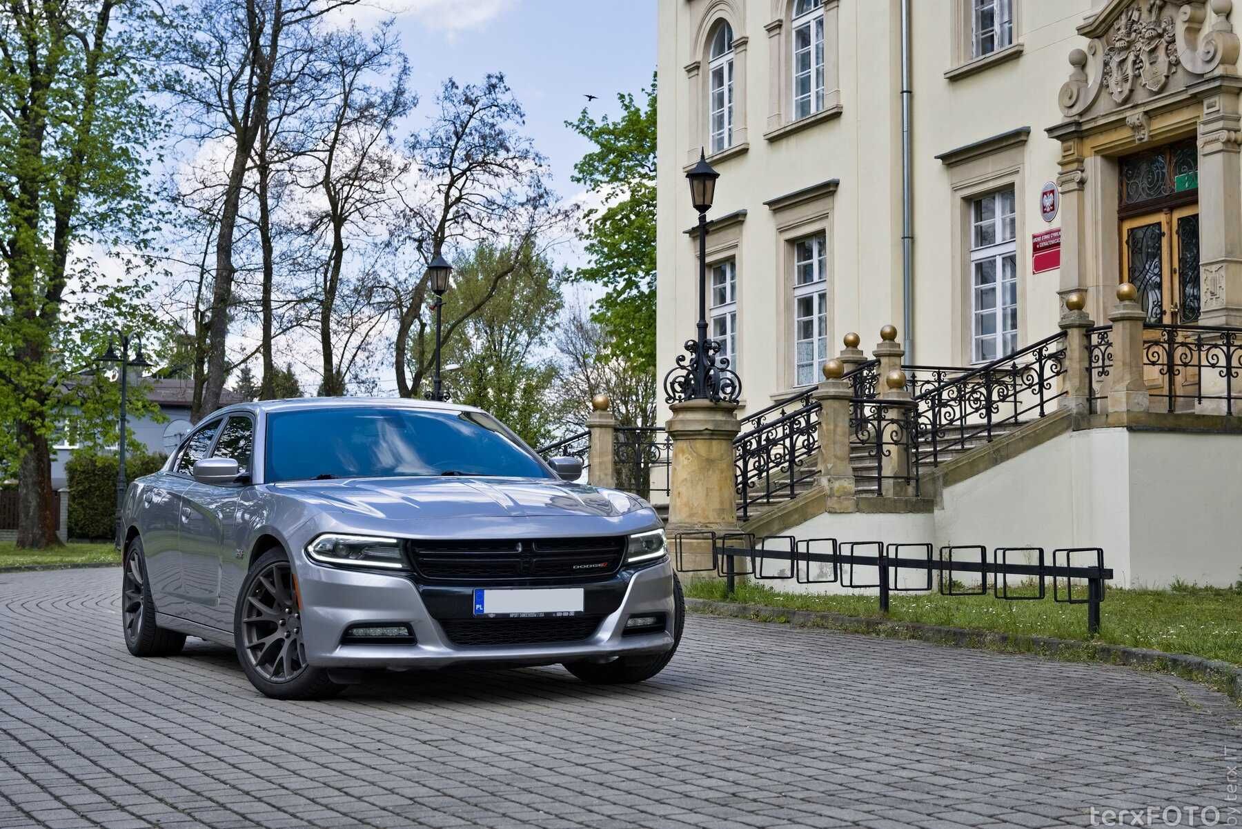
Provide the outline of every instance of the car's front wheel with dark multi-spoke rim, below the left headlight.
{"type": "Polygon", "coordinates": [[[233,643],[246,678],[276,700],[322,700],[344,685],[307,663],[302,604],[293,565],[283,550],[268,550],[246,573],[233,614],[233,643]]]}

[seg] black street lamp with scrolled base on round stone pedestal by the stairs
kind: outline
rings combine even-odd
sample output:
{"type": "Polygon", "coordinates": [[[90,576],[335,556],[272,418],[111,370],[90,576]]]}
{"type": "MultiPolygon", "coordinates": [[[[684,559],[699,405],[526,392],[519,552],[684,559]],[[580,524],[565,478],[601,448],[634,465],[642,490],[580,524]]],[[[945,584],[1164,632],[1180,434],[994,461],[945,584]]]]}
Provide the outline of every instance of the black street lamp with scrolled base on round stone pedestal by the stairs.
{"type": "Polygon", "coordinates": [[[712,210],[715,180],[720,174],[699,150],[698,164],[686,177],[691,182],[691,204],[699,215],[699,319],[696,339],[686,341],[689,356],[678,355],[677,366],[664,375],[664,402],[709,400],[737,403],[741,396],[741,380],[729,369],[728,357],[717,356],[720,344],[707,335],[707,211],[712,210]]]}

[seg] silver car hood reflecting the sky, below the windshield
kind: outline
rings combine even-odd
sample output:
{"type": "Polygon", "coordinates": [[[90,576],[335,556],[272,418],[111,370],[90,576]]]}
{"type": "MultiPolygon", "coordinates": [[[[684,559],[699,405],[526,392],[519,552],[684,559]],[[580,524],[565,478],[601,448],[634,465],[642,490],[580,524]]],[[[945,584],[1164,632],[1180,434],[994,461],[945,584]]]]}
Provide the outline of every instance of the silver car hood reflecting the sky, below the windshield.
{"type": "Polygon", "coordinates": [[[597,486],[535,478],[351,478],[271,484],[307,506],[397,521],[477,518],[616,518],[647,504],[597,486]]]}

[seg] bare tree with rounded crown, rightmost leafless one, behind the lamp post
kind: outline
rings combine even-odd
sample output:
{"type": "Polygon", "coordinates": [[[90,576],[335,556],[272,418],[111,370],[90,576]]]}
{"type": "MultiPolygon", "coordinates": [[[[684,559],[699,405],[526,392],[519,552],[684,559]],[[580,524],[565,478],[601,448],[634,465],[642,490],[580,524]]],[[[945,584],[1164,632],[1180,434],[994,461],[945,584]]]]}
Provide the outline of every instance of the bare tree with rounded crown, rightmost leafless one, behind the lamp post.
{"type": "Polygon", "coordinates": [[[397,319],[394,369],[402,397],[420,392],[428,367],[425,311],[433,305],[427,300],[426,264],[481,241],[513,252],[478,298],[445,321],[442,341],[448,343],[513,276],[533,241],[566,217],[545,185],[545,159],[519,132],[525,115],[503,74],[466,86],[450,78],[436,105],[427,128],[406,144],[422,180],[404,196],[406,210],[394,237],[399,247],[412,244],[416,274],[388,285],[397,319]]]}

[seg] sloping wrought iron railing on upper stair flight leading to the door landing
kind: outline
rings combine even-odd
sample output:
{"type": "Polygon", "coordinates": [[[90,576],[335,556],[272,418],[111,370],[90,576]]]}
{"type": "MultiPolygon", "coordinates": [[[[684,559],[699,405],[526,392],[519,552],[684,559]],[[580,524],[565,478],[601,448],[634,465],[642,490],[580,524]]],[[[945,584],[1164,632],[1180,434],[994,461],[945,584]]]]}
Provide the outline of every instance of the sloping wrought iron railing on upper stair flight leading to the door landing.
{"type": "Polygon", "coordinates": [[[1052,336],[971,369],[914,397],[919,462],[936,465],[944,452],[991,442],[1001,428],[1049,413],[1064,396],[1066,334],[1052,336]]]}

